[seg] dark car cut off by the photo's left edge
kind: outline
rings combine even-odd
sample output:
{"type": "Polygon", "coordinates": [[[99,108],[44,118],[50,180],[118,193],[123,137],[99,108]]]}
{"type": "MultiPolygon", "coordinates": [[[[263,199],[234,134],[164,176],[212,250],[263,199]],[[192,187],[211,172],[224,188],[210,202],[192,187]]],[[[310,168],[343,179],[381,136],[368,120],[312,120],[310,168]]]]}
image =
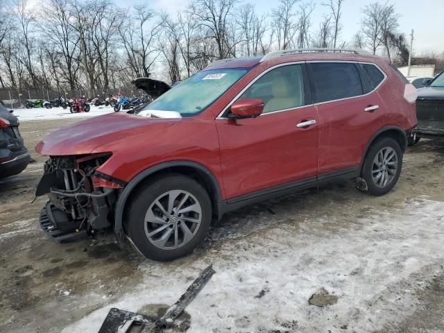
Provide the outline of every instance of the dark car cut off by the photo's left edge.
{"type": "Polygon", "coordinates": [[[30,158],[19,132],[19,119],[0,103],[0,179],[24,171],[30,158]]]}

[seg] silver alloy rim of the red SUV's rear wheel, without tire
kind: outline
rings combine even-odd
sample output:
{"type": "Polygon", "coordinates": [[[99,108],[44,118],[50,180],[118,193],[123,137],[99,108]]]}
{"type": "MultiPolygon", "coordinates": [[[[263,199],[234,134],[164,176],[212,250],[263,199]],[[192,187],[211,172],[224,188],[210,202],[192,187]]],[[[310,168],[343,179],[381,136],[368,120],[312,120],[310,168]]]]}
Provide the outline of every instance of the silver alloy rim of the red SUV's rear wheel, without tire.
{"type": "Polygon", "coordinates": [[[391,147],[382,148],[373,159],[372,179],[379,188],[390,184],[398,171],[398,155],[391,147]]]}

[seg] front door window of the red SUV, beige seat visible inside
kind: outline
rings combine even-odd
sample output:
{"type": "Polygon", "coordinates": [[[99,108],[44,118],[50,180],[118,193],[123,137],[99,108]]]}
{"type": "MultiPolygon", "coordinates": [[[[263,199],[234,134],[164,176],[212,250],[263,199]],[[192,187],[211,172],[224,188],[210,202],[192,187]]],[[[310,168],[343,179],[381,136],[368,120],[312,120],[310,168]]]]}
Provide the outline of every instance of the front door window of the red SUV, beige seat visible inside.
{"type": "Polygon", "coordinates": [[[287,65],[268,71],[239,99],[262,99],[265,104],[262,113],[305,105],[302,66],[287,65]]]}

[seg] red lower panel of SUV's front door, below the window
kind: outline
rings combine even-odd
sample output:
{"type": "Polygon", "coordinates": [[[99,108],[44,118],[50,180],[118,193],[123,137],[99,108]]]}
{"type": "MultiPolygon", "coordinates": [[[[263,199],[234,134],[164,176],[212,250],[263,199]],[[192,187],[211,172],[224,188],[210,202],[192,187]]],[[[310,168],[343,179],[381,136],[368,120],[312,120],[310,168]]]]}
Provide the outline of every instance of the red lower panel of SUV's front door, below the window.
{"type": "Polygon", "coordinates": [[[255,119],[216,120],[227,198],[267,187],[316,177],[318,121],[313,106],[262,114],[255,119]]]}

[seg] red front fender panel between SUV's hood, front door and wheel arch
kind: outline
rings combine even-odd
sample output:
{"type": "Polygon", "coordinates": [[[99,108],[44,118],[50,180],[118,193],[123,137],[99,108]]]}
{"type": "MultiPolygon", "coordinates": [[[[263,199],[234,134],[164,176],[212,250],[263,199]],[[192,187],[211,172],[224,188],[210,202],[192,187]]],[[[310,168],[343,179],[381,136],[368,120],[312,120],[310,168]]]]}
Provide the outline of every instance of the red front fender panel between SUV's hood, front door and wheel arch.
{"type": "MultiPolygon", "coordinates": [[[[159,119],[156,119],[159,120],[159,119]]],[[[112,151],[112,157],[97,169],[102,173],[129,181],[137,173],[162,162],[188,160],[207,167],[222,184],[219,141],[213,121],[180,119],[172,126],[139,133],[104,143],[93,153],[112,151]]]]}

